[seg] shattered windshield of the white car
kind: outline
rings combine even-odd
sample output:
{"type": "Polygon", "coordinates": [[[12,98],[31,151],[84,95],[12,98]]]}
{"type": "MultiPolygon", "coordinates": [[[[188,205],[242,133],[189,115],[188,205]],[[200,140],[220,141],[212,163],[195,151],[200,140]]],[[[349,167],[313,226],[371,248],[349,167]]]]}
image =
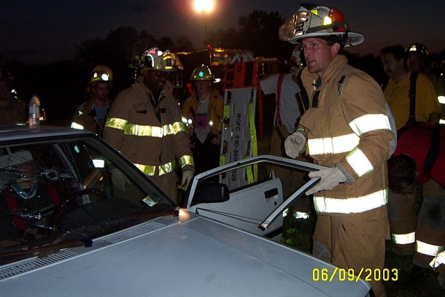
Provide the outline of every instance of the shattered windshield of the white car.
{"type": "Polygon", "coordinates": [[[175,208],[92,137],[0,145],[0,188],[1,252],[104,235],[175,208]]]}

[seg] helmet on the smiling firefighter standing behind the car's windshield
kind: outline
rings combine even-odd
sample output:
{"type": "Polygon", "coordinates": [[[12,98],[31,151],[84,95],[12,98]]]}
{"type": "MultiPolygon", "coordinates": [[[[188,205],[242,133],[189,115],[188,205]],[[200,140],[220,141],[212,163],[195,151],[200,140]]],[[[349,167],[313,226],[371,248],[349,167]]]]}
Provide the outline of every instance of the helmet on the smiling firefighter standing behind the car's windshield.
{"type": "Polygon", "coordinates": [[[168,49],[161,51],[157,47],[152,47],[144,51],[142,55],[136,56],[136,60],[141,72],[146,70],[172,72],[176,70],[172,62],[172,54],[168,49]]]}

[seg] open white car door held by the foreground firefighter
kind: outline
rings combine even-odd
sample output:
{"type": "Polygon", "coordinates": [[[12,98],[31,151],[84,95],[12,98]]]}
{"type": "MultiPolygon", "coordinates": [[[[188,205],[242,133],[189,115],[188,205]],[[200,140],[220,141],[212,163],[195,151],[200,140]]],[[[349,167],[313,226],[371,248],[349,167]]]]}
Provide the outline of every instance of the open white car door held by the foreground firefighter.
{"type": "Polygon", "coordinates": [[[318,179],[309,179],[296,192],[284,197],[282,183],[273,171],[267,170],[268,165],[304,171],[323,168],[312,163],[270,155],[229,163],[195,176],[186,197],[187,209],[261,236],[273,238],[281,234],[283,211],[308,188],[314,186],[318,179]],[[229,189],[223,181],[233,170],[239,168],[246,169],[241,170],[242,172],[258,172],[257,176],[252,179],[246,174],[246,181],[250,181],[243,186],[229,189]]]}

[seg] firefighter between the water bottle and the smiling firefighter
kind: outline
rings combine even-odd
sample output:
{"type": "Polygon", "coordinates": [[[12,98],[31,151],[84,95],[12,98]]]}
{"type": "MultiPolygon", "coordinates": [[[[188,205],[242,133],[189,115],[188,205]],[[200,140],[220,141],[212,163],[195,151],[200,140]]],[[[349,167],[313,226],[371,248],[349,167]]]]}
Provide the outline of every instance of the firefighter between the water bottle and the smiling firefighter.
{"type": "Polygon", "coordinates": [[[87,91],[90,99],[77,107],[71,127],[86,129],[102,137],[106,113],[111,104],[108,93],[113,83],[113,71],[105,65],[97,65],[90,73],[87,91]]]}

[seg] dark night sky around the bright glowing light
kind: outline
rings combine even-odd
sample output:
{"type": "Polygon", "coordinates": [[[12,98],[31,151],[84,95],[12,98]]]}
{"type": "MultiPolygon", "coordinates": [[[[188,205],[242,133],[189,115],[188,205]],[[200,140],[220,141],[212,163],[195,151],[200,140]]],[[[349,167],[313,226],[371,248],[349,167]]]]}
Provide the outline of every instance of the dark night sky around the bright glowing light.
{"type": "MultiPolygon", "coordinates": [[[[300,1],[214,0],[207,15],[208,31],[238,28],[238,17],[253,10],[277,11],[286,19],[300,1]]],[[[303,1],[307,3],[307,1],[303,1]]],[[[309,1],[310,2],[310,1],[309,1]]],[[[406,47],[422,42],[431,52],[445,49],[444,0],[337,0],[318,2],[335,6],[351,31],[363,33],[362,45],[350,49],[378,54],[382,47],[406,47]]],[[[73,58],[75,44],[106,35],[120,26],[145,29],[155,38],[190,36],[197,47],[204,40],[204,17],[193,10],[193,0],[0,0],[0,54],[25,63],[49,63],[73,58]]]]}

